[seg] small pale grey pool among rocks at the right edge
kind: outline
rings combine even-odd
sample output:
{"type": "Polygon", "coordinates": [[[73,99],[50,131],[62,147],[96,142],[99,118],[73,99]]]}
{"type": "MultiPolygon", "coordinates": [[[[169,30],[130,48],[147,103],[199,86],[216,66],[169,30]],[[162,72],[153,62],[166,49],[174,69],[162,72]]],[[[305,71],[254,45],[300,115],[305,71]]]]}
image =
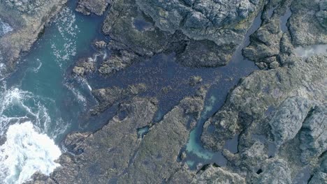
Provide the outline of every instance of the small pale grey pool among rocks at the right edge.
{"type": "Polygon", "coordinates": [[[295,48],[295,52],[300,57],[309,58],[317,54],[327,54],[327,45],[300,46],[295,48]]]}

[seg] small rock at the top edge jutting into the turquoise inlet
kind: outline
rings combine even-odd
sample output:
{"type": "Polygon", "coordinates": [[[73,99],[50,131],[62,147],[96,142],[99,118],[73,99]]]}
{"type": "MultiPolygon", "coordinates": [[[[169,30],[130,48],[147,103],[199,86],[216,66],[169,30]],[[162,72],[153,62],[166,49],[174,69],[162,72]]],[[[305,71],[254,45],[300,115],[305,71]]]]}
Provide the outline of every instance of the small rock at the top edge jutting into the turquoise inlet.
{"type": "Polygon", "coordinates": [[[111,1],[112,0],[79,0],[76,11],[84,15],[90,15],[91,13],[103,15],[103,12],[111,1]]]}

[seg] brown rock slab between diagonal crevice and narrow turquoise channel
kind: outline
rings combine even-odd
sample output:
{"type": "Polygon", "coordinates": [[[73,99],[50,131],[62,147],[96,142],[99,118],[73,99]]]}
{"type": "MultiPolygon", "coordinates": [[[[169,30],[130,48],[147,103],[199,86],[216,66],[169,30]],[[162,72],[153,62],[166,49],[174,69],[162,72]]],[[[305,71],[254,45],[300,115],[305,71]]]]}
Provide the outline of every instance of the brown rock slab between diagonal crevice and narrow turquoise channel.
{"type": "MultiPolygon", "coordinates": [[[[118,183],[158,183],[175,180],[176,172],[184,176],[181,162],[177,162],[181,149],[187,144],[188,124],[198,121],[203,110],[204,96],[184,98],[163,120],[152,127],[143,138],[138,155],[118,183]]],[[[189,176],[187,177],[189,179],[189,176]]],[[[183,180],[182,180],[183,181],[183,180]]],[[[185,179],[183,183],[187,183],[185,179]]]]}

